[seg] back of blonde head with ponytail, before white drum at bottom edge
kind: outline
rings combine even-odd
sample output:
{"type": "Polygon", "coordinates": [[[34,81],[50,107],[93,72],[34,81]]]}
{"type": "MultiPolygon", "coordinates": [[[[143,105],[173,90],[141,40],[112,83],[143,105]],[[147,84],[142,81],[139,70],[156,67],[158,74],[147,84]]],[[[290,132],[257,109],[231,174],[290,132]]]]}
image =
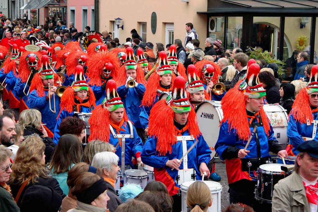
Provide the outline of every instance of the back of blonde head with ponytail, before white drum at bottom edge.
{"type": "Polygon", "coordinates": [[[202,181],[192,183],[187,191],[187,205],[191,212],[207,211],[212,205],[210,188],[202,181]]]}

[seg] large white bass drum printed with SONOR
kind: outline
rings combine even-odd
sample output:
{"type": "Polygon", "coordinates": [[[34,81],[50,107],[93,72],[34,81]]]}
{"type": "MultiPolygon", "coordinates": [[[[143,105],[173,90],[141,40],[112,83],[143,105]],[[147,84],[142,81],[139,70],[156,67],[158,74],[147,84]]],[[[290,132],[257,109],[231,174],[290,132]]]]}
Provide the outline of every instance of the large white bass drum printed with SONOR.
{"type": "Polygon", "coordinates": [[[218,140],[219,125],[223,118],[221,102],[205,100],[197,106],[196,113],[200,131],[212,151],[211,157],[214,157],[214,146],[218,140]]]}

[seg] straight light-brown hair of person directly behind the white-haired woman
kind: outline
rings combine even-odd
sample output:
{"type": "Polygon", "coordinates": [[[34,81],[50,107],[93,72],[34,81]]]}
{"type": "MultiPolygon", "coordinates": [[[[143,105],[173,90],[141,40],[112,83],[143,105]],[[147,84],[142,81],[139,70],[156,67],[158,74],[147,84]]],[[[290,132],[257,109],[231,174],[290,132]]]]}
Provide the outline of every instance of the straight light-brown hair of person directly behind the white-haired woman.
{"type": "Polygon", "coordinates": [[[91,165],[95,154],[100,152],[115,152],[115,148],[109,142],[101,140],[92,140],[85,147],[83,160],[91,165]]]}

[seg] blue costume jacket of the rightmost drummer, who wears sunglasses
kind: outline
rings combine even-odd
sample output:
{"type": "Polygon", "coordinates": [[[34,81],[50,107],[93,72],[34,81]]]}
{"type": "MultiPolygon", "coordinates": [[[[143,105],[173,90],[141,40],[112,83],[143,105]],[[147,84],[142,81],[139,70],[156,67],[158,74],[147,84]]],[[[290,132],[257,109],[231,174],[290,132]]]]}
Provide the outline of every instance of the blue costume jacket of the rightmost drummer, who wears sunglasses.
{"type": "MultiPolygon", "coordinates": [[[[314,120],[318,120],[318,112],[313,113],[313,117],[314,120]]],[[[289,138],[289,144],[292,145],[292,151],[289,155],[296,156],[299,153],[297,150],[298,145],[305,141],[303,137],[312,138],[313,129],[313,123],[311,123],[310,126],[307,126],[307,123],[301,124],[299,121],[296,121],[293,114],[290,113],[287,126],[287,136],[289,138]]],[[[318,133],[316,133],[315,138],[310,140],[318,140],[318,133]]]]}

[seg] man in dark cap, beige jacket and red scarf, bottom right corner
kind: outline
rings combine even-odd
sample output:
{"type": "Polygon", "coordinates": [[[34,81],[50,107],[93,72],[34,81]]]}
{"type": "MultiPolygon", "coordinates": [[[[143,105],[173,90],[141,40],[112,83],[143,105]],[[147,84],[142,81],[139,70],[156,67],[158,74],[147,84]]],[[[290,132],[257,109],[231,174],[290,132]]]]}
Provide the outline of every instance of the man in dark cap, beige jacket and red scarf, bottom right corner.
{"type": "Polygon", "coordinates": [[[293,173],[274,186],[272,211],[318,211],[318,142],[301,143],[293,173]]]}

